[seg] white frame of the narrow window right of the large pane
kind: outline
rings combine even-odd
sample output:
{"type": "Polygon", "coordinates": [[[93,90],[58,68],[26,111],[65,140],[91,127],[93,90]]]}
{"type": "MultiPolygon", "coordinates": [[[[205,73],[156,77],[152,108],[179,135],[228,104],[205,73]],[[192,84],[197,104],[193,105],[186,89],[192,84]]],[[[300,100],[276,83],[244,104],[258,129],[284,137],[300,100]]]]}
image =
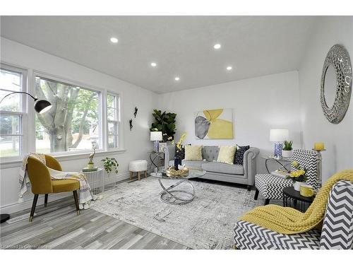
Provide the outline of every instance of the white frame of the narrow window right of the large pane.
{"type": "Polygon", "coordinates": [[[119,150],[121,149],[121,101],[120,101],[120,94],[116,93],[116,92],[112,92],[111,90],[107,90],[107,95],[105,98],[105,103],[106,103],[106,107],[105,107],[105,112],[106,112],[106,129],[107,129],[107,140],[106,140],[106,146],[107,146],[107,151],[114,151],[114,150],[119,150]],[[115,120],[109,120],[108,119],[108,108],[112,108],[112,107],[108,107],[107,106],[107,100],[108,100],[108,95],[112,95],[113,97],[115,97],[115,120]],[[114,124],[116,125],[116,134],[109,134],[109,129],[108,129],[108,124],[109,122],[114,122],[114,124]],[[117,147],[112,147],[109,148],[109,136],[113,135],[116,136],[116,146],[117,147]]]}

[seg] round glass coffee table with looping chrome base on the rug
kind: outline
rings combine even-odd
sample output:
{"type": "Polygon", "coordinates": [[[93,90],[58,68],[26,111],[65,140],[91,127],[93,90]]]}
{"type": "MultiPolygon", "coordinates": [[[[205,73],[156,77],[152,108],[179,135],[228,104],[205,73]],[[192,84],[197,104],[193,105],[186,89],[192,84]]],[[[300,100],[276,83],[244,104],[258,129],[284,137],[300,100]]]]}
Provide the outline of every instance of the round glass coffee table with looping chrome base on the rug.
{"type": "Polygon", "coordinates": [[[205,175],[205,170],[197,170],[189,168],[189,175],[184,177],[181,176],[167,176],[167,172],[164,167],[159,167],[157,173],[151,173],[152,177],[156,177],[158,182],[160,182],[160,187],[162,187],[162,192],[160,193],[160,199],[167,204],[181,205],[188,204],[193,201],[195,198],[195,188],[189,179],[193,179],[194,177],[202,177],[205,175]],[[172,184],[169,187],[164,187],[162,184],[162,179],[174,179],[177,181],[175,184],[172,184]],[[185,189],[174,189],[178,187],[180,184],[186,183],[191,186],[191,192],[186,191],[185,189]]]}

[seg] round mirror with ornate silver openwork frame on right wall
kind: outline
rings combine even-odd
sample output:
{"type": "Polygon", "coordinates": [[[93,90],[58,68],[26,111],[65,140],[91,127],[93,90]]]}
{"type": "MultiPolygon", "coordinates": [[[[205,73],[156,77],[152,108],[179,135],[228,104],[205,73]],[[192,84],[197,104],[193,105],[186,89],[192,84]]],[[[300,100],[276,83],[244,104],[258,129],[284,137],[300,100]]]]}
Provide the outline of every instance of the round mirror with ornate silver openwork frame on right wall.
{"type": "Polygon", "coordinates": [[[342,45],[333,45],[326,55],[321,75],[321,107],[329,122],[338,124],[345,117],[352,93],[352,66],[342,45]]]}

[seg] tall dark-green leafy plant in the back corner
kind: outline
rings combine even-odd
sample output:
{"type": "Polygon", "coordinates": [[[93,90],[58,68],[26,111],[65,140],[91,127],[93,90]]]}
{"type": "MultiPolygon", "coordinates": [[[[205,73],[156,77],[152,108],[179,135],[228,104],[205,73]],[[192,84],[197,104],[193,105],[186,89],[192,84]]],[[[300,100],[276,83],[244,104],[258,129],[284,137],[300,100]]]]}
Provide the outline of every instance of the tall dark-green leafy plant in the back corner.
{"type": "Polygon", "coordinates": [[[177,131],[175,126],[176,113],[162,112],[161,110],[153,110],[153,117],[155,122],[152,123],[150,131],[162,131],[163,141],[167,139],[174,139],[174,134],[177,131]]]}

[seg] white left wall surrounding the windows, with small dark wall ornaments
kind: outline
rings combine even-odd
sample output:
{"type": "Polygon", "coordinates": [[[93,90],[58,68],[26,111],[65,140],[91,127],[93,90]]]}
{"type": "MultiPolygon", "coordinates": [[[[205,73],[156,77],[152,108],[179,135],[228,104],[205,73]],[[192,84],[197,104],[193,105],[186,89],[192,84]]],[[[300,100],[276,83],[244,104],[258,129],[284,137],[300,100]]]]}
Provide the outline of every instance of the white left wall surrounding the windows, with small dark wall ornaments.
{"type": "MultiPolygon", "coordinates": [[[[109,157],[114,157],[119,162],[119,175],[116,176],[116,179],[128,176],[128,162],[130,160],[148,158],[146,152],[152,148],[152,143],[149,139],[149,126],[152,122],[151,113],[156,103],[155,93],[5,38],[1,38],[0,55],[1,61],[5,63],[15,64],[30,71],[42,71],[97,88],[107,88],[121,94],[123,115],[121,124],[124,125],[124,148],[126,151],[109,154],[109,157]],[[136,119],[133,119],[133,130],[130,131],[128,120],[133,118],[135,106],[138,107],[138,115],[136,119]]],[[[95,163],[101,165],[101,159],[102,155],[96,155],[95,163]]],[[[87,161],[88,158],[73,158],[61,161],[61,165],[64,170],[77,171],[84,167],[87,161]]],[[[25,197],[25,203],[18,204],[18,167],[1,168],[0,175],[1,212],[12,213],[13,211],[28,208],[31,196],[25,197]]],[[[40,200],[40,203],[42,203],[42,200],[40,200]]]]}

